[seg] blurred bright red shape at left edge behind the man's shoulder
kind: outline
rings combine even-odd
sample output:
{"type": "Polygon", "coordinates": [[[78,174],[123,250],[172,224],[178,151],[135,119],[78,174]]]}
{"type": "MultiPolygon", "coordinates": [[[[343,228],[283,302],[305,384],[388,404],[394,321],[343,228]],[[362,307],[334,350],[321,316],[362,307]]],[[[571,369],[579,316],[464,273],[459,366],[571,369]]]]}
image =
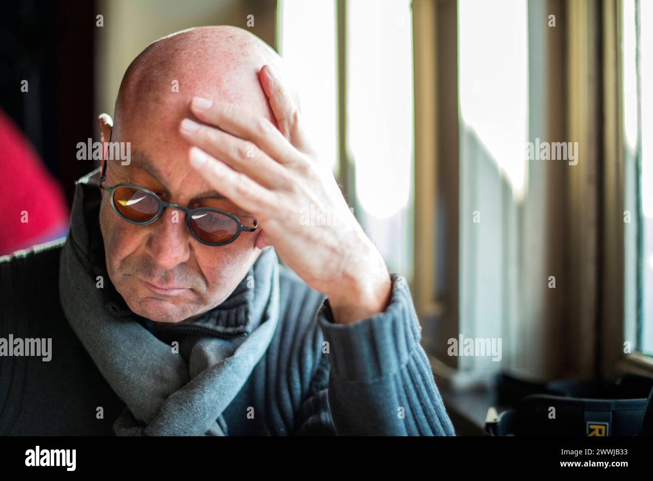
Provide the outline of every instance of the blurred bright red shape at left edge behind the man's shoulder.
{"type": "Polygon", "coordinates": [[[0,110],[0,255],[54,239],[69,222],[63,192],[39,154],[0,110]],[[21,222],[27,211],[27,222],[21,222]]]}

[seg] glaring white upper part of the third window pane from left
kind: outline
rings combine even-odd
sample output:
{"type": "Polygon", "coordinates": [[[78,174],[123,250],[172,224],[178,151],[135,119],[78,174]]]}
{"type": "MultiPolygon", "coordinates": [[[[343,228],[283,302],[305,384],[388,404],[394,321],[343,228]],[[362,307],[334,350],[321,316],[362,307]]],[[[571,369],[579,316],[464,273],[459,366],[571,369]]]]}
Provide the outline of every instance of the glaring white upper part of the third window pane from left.
{"type": "Polygon", "coordinates": [[[528,35],[523,0],[460,0],[460,115],[518,199],[526,174],[528,35]]]}

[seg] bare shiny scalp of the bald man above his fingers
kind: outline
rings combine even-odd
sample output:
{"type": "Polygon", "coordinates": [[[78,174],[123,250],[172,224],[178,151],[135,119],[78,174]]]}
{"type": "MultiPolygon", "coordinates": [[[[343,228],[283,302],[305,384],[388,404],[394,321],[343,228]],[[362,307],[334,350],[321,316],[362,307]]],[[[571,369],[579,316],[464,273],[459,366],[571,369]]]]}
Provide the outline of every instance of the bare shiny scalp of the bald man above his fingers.
{"type": "MultiPolygon", "coordinates": [[[[116,99],[114,129],[124,118],[155,116],[172,133],[189,115],[194,96],[234,103],[276,124],[258,78],[266,64],[283,78],[283,59],[239,27],[199,27],[168,35],[129,65],[116,99]]],[[[299,105],[296,93],[294,97],[299,105]]]]}

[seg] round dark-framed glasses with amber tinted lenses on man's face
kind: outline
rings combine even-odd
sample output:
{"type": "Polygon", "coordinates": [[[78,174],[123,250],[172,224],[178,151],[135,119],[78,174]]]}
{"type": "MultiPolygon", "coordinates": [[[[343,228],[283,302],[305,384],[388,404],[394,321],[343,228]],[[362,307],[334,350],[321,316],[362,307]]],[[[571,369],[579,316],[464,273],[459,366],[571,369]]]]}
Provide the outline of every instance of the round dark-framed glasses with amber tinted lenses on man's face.
{"type": "Polygon", "coordinates": [[[238,239],[241,232],[253,232],[259,225],[245,227],[234,214],[217,208],[186,208],[163,202],[153,191],[134,184],[104,185],[106,175],[100,179],[100,187],[109,193],[111,206],[116,213],[131,224],[148,225],[155,222],[166,207],[183,210],[186,224],[195,239],[208,246],[224,246],[238,239]]]}

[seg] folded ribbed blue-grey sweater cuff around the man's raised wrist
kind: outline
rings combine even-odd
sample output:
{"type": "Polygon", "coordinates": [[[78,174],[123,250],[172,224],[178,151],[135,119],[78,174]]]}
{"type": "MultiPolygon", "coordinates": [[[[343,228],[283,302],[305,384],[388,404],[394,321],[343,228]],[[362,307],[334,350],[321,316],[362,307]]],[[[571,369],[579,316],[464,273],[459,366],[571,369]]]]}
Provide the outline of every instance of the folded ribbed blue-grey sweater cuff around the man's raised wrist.
{"type": "Polygon", "coordinates": [[[388,307],[370,318],[349,324],[334,323],[325,299],[317,312],[331,372],[338,378],[370,382],[389,376],[404,366],[419,346],[421,326],[404,276],[390,274],[392,293],[388,307]]]}

